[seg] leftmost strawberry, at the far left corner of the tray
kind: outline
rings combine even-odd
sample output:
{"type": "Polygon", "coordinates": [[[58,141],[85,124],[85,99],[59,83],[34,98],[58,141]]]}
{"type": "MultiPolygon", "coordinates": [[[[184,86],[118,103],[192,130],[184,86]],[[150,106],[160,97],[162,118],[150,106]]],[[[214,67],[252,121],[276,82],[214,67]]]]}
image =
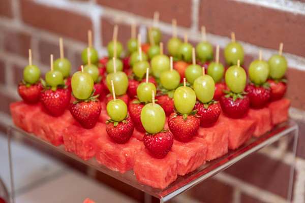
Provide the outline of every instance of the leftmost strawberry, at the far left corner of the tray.
{"type": "Polygon", "coordinates": [[[38,103],[40,91],[42,91],[42,90],[43,90],[43,88],[42,88],[40,82],[38,84],[34,84],[34,85],[26,85],[26,84],[23,84],[22,82],[20,82],[18,85],[19,95],[28,104],[38,103]]]}

